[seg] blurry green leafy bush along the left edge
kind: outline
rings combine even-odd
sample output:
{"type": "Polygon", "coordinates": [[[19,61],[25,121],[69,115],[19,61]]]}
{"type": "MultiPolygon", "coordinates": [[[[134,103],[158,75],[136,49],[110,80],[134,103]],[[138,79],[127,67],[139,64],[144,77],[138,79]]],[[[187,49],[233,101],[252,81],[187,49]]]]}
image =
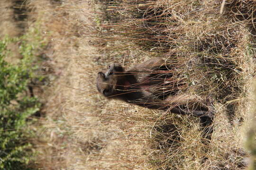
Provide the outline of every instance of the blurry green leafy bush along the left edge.
{"type": "Polygon", "coordinates": [[[30,170],[25,166],[32,155],[27,119],[40,108],[37,98],[27,95],[33,71],[28,56],[33,53],[29,44],[22,43],[23,59],[18,65],[9,64],[4,58],[9,55],[7,44],[11,41],[0,41],[0,169],[30,170]]]}

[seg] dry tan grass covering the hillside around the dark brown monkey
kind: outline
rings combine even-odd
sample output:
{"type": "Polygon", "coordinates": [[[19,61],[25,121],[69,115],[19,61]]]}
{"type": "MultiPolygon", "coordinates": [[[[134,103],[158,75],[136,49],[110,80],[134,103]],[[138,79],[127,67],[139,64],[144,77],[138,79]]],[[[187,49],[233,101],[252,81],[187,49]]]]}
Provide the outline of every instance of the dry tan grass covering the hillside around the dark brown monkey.
{"type": "MultiPolygon", "coordinates": [[[[249,111],[254,108],[254,0],[23,2],[18,5],[26,19],[19,21],[26,25],[7,16],[9,29],[0,34],[18,36],[20,29],[37,28],[45,40],[37,74],[48,79],[43,93],[38,92],[44,105],[33,139],[35,168],[247,168],[246,132],[255,117],[249,111]],[[109,101],[97,92],[97,73],[110,63],[129,67],[154,57],[178,60],[176,78],[185,84],[179,93],[214,99],[217,113],[209,145],[201,142],[196,118],[109,101]]],[[[1,3],[9,11],[9,1],[1,3]]],[[[16,51],[15,44],[12,49],[16,51]]],[[[255,136],[250,132],[247,145],[253,153],[255,136]]]]}

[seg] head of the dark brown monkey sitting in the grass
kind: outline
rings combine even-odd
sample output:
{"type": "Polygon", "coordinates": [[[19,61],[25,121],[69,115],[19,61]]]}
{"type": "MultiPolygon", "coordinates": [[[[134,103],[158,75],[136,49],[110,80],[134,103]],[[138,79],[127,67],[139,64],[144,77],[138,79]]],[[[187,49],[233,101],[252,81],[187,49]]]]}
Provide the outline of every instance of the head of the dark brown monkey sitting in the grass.
{"type": "Polygon", "coordinates": [[[97,77],[97,89],[99,92],[105,97],[115,97],[114,95],[117,94],[117,82],[123,71],[121,66],[110,64],[106,72],[99,72],[97,77]]]}

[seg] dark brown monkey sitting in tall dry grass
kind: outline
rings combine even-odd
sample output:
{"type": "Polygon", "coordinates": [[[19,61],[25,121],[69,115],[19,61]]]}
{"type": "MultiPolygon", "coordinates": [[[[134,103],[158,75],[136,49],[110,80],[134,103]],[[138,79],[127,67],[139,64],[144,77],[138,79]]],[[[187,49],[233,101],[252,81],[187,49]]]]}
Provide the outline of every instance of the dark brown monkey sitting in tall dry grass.
{"type": "MultiPolygon", "coordinates": [[[[176,114],[192,114],[201,118],[202,126],[210,125],[214,118],[211,101],[178,94],[178,87],[183,83],[174,78],[172,67],[161,58],[149,59],[127,71],[110,64],[106,72],[98,73],[97,88],[109,99],[176,114]]],[[[212,132],[212,129],[205,130],[212,132]]]]}

